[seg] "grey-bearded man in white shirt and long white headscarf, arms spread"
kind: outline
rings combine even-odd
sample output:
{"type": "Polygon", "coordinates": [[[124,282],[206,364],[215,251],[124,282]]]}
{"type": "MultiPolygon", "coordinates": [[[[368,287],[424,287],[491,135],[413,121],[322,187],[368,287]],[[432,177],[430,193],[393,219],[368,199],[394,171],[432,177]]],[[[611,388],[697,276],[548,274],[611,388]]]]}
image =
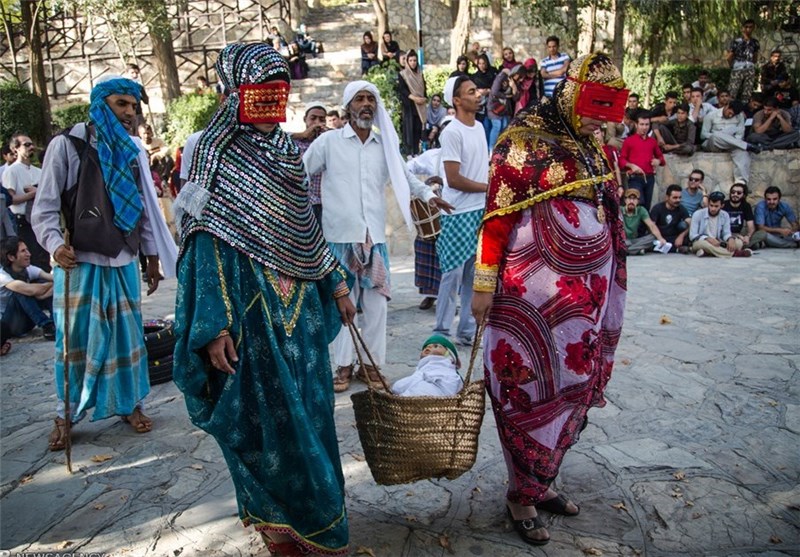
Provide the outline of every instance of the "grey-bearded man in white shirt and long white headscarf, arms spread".
{"type": "MultiPolygon", "coordinates": [[[[391,296],[385,231],[386,182],[391,180],[409,227],[412,195],[445,210],[450,205],[436,197],[403,164],[397,132],[373,84],[348,84],[342,104],[349,122],[319,136],[306,151],[303,162],[309,176],[323,173],[322,230],[348,274],[353,303],[360,299],[363,338],[380,366],[386,361],[386,309],[391,296]]],[[[334,390],[342,392],[350,386],[353,375],[354,347],[346,328],[334,340],[333,351],[337,366],[334,390]]],[[[380,385],[379,374],[378,369],[365,365],[359,369],[358,377],[380,385]]]]}

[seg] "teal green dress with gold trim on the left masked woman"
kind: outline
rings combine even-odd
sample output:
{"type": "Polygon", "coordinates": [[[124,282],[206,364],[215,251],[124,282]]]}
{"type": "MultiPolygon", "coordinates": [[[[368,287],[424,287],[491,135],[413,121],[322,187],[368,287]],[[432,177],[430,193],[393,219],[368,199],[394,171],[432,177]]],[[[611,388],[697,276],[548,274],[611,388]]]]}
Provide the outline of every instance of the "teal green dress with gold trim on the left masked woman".
{"type": "Polygon", "coordinates": [[[245,526],[330,555],[348,543],[328,357],[342,280],[338,267],[318,281],[288,278],[198,231],[179,261],[175,317],[175,383],[222,448],[245,526]],[[234,375],[204,350],[222,330],[236,346],[234,375]]]}

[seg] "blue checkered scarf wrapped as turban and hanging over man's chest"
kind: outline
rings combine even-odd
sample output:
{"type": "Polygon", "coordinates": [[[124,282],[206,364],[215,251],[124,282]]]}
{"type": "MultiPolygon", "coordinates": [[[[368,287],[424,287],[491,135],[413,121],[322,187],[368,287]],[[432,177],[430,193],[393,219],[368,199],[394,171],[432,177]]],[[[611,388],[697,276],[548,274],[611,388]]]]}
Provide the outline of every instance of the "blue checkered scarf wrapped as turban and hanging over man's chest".
{"type": "Polygon", "coordinates": [[[139,147],[106,103],[106,97],[131,95],[139,101],[141,91],[141,85],[121,77],[98,83],[90,97],[89,120],[97,133],[97,154],[106,191],[114,206],[114,225],[126,234],[136,227],[142,216],[142,199],[131,170],[131,163],[139,156],[139,147]]]}

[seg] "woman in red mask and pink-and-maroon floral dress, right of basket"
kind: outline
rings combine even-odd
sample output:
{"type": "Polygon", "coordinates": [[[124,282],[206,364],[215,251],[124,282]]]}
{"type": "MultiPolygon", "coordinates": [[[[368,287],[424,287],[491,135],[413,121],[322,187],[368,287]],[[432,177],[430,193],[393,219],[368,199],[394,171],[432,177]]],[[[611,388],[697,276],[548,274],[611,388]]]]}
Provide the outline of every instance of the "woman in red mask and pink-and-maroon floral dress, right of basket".
{"type": "Polygon", "coordinates": [[[495,147],[472,311],[484,323],[487,389],[509,470],[506,507],[527,543],[539,511],[573,516],[552,489],[587,411],[603,406],[625,304],[617,184],[592,133],[621,121],[627,91],[604,54],[579,58],[552,100],[495,147]]]}

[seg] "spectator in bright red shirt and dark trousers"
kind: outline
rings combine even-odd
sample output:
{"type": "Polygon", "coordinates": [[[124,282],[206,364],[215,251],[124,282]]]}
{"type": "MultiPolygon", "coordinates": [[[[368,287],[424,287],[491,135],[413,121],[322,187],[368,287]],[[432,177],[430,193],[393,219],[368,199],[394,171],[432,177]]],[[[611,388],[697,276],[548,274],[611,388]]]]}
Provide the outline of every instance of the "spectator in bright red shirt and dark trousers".
{"type": "Polygon", "coordinates": [[[640,110],[636,115],[636,133],[622,143],[620,167],[628,174],[628,187],[639,190],[643,207],[648,209],[653,201],[656,166],[664,166],[664,154],[658,141],[650,137],[650,114],[640,110]]]}

